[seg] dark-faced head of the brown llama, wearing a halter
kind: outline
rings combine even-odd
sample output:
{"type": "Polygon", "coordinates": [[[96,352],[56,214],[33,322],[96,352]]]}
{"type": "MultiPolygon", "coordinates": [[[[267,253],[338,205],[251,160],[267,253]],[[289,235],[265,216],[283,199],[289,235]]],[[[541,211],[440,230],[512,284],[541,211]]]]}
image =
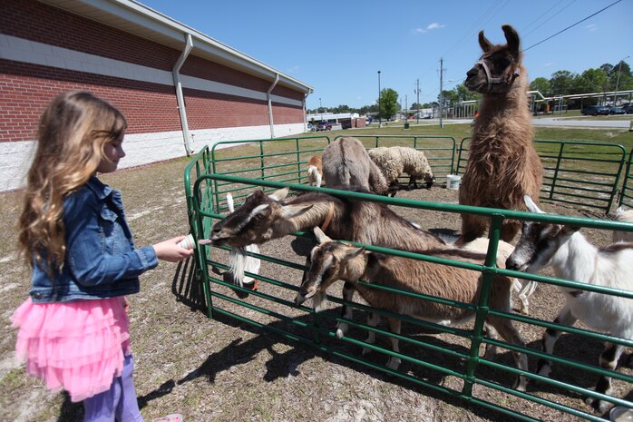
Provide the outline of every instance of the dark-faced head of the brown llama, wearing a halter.
{"type": "Polygon", "coordinates": [[[466,88],[477,93],[507,93],[521,76],[521,42],[511,25],[502,26],[508,44],[493,45],[479,33],[482,57],[466,73],[466,88]]]}

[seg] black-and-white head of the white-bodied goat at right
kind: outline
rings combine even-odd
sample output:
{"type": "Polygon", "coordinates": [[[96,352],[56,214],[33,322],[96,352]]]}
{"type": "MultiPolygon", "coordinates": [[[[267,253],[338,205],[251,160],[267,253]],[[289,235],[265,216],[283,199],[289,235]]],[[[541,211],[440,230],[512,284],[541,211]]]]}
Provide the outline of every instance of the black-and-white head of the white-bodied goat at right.
{"type": "MultiPolygon", "coordinates": [[[[531,200],[530,196],[525,195],[524,200],[528,211],[543,212],[531,200]]],[[[570,240],[571,235],[576,231],[579,231],[579,227],[524,221],[521,239],[508,260],[505,261],[505,267],[508,270],[527,272],[536,272],[548,267],[556,251],[567,240],[570,240]]]]}

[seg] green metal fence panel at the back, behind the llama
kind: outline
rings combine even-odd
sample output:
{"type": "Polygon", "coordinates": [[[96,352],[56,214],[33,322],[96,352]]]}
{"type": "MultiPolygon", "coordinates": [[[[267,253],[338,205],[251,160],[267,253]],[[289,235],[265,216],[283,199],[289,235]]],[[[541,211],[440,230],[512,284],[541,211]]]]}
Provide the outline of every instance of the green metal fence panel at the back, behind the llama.
{"type": "MultiPolygon", "coordinates": [[[[465,170],[469,141],[470,138],[464,138],[460,142],[458,174],[465,170]]],[[[618,194],[619,177],[626,160],[622,145],[534,140],[534,146],[544,170],[541,199],[609,212],[618,194]]]]}

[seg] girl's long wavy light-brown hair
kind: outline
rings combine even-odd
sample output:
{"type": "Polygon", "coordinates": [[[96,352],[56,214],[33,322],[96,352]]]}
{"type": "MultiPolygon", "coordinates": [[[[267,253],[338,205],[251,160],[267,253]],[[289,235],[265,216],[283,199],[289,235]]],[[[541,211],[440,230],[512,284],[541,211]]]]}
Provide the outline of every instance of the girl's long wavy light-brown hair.
{"type": "Polygon", "coordinates": [[[49,274],[62,267],[63,200],[88,182],[104,158],[103,146],[120,139],[126,127],[122,113],[92,93],[62,93],[46,107],[19,223],[19,248],[30,267],[37,261],[49,274]]]}

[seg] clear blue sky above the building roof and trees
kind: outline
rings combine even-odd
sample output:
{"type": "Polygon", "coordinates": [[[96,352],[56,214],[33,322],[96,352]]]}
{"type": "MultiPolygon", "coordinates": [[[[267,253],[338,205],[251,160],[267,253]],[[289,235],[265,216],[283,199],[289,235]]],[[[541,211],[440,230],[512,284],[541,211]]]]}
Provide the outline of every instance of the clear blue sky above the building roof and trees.
{"type": "MultiPolygon", "coordinates": [[[[315,88],[307,108],[375,103],[393,88],[404,106],[435,101],[462,83],[479,58],[477,34],[504,44],[510,24],[527,49],[617,0],[230,1],[141,0],[260,62],[315,88]],[[476,7],[475,7],[476,6],[476,7]]],[[[525,52],[530,80],[559,70],[582,73],[601,64],[633,64],[633,1],[618,4],[525,52]]],[[[633,65],[631,66],[633,67],[633,65]]]]}

